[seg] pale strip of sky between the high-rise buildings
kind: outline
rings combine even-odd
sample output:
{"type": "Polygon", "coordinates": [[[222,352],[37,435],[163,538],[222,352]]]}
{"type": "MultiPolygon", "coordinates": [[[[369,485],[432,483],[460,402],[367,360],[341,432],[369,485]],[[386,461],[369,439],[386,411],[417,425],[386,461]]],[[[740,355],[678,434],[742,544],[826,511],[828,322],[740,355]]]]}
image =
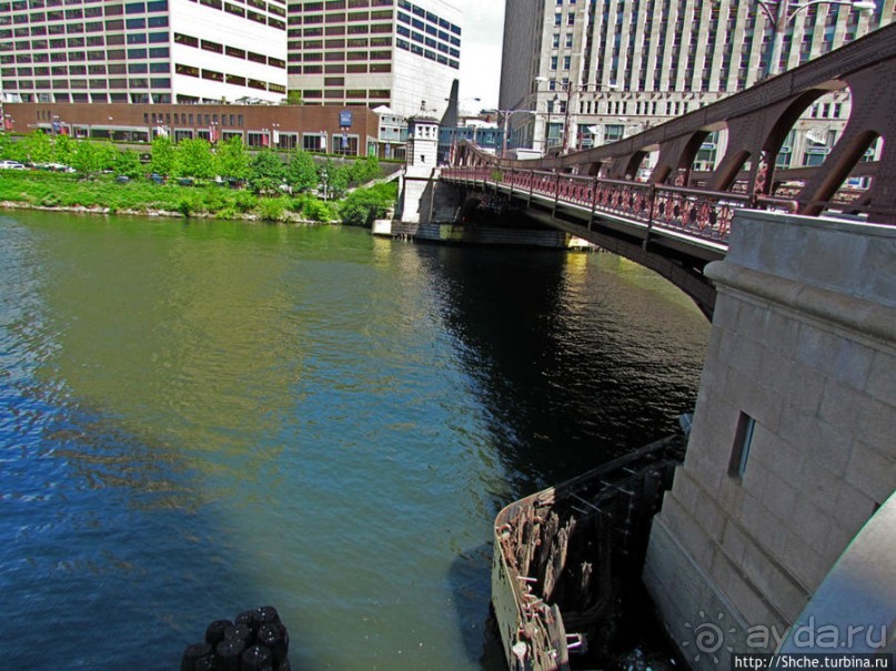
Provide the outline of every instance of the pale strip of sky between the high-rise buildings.
{"type": "Polygon", "coordinates": [[[461,24],[460,108],[463,112],[497,108],[504,0],[449,0],[463,12],[461,24]],[[471,100],[479,98],[480,101],[471,100]]]}

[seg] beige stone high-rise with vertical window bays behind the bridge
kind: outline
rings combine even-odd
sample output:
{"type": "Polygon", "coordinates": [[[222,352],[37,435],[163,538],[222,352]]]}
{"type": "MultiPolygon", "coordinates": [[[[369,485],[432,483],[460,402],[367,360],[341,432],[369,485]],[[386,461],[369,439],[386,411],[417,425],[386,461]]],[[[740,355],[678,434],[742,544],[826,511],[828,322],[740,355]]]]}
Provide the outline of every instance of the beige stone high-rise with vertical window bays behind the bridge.
{"type": "MultiPolygon", "coordinates": [[[[505,113],[510,145],[548,152],[621,140],[893,21],[893,0],[849,4],[506,0],[500,106],[519,111],[505,113]]],[[[848,116],[848,91],[819,100],[779,164],[821,163],[848,116]]],[[[721,155],[717,140],[697,170],[721,155]]]]}

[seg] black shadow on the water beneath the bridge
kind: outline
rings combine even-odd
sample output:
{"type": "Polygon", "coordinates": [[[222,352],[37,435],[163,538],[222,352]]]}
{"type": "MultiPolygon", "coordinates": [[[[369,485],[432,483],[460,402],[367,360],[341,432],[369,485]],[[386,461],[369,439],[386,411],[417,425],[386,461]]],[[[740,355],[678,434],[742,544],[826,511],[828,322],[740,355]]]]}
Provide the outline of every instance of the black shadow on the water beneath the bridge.
{"type": "Polygon", "coordinates": [[[708,325],[650,271],[606,253],[421,254],[513,497],[672,433],[693,408],[708,325]]]}

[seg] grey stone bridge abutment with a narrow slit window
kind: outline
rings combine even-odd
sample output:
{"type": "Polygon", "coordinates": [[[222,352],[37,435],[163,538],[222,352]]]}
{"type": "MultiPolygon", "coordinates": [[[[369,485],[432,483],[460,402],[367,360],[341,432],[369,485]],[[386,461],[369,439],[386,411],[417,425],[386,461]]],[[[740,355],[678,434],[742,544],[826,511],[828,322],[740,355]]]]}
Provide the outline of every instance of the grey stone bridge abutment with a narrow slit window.
{"type": "MultiPolygon", "coordinates": [[[[644,570],[701,671],[773,652],[893,492],[896,228],[742,211],[706,274],[703,382],[644,570]]],[[[875,617],[853,624],[892,626],[875,617]]]]}

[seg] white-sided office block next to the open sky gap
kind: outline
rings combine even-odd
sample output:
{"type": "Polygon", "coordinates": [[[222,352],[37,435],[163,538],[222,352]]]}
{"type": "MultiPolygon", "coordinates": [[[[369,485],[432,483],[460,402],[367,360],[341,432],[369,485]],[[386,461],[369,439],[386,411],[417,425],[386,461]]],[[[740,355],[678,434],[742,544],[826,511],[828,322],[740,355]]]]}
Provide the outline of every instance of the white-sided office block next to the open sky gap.
{"type": "Polygon", "coordinates": [[[293,2],[288,18],[289,88],[306,104],[445,111],[461,59],[461,12],[451,3],[293,2]]]}

